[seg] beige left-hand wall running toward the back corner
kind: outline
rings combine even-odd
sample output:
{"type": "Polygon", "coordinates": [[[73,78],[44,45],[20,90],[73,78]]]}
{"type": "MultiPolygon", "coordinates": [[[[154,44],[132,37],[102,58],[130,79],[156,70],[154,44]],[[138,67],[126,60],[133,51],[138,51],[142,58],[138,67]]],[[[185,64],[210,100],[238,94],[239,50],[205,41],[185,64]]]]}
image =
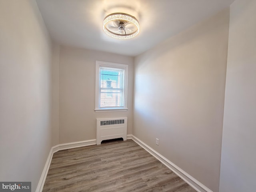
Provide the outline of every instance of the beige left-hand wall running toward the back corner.
{"type": "Polygon", "coordinates": [[[0,181],[35,191],[51,148],[51,42],[34,0],[0,0],[0,181]]]}

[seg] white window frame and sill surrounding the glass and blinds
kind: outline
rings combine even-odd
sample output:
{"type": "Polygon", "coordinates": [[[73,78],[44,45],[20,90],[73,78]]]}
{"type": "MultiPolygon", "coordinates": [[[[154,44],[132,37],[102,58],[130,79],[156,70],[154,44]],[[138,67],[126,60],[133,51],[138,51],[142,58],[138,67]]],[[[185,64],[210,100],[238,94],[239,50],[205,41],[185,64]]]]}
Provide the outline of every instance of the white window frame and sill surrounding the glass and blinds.
{"type": "Polygon", "coordinates": [[[128,95],[128,65],[110,63],[104,61],[96,61],[96,80],[95,80],[95,112],[113,112],[127,111],[127,95],[128,95]],[[116,108],[100,108],[100,67],[110,67],[124,69],[124,107],[116,108]]]}

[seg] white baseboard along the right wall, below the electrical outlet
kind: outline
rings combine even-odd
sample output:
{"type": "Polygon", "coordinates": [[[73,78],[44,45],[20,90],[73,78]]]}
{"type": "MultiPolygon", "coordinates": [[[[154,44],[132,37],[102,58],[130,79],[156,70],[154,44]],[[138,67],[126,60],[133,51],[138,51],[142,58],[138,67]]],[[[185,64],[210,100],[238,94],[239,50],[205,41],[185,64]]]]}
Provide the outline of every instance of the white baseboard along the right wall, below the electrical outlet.
{"type": "Polygon", "coordinates": [[[149,152],[152,156],[154,156],[156,159],[158,159],[162,164],[164,164],[166,167],[168,167],[170,170],[172,170],[176,175],[178,175],[180,178],[182,178],[186,183],[188,183],[192,188],[194,188],[198,192],[212,192],[209,188],[204,186],[202,183],[200,183],[198,180],[193,178],[190,174],[186,173],[184,170],[176,166],[174,163],[172,163],[170,160],[162,156],[160,153],[156,152],[154,149],[152,149],[150,146],[142,142],[140,139],[136,138],[136,136],[131,135],[131,139],[134,140],[138,145],[140,145],[142,148],[144,148],[147,152],[149,152]]]}

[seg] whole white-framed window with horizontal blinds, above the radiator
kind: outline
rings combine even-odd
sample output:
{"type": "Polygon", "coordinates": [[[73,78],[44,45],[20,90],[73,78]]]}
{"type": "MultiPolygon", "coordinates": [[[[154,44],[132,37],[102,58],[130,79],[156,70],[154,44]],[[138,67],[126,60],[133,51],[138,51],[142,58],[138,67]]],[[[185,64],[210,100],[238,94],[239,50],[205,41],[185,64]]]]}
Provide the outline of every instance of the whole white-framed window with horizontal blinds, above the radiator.
{"type": "Polygon", "coordinates": [[[95,111],[126,111],[128,65],[96,61],[95,111]]]}

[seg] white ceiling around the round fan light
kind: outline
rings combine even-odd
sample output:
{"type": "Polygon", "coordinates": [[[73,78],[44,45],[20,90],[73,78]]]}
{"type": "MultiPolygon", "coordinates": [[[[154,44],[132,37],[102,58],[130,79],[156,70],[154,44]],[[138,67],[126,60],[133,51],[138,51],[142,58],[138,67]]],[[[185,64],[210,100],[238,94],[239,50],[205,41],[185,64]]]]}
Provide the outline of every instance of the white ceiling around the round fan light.
{"type": "MultiPolygon", "coordinates": [[[[36,0],[52,39],[61,45],[136,56],[229,7],[234,0],[36,0]],[[129,40],[106,35],[114,9],[138,13],[140,33],[129,40]]],[[[115,11],[116,12],[116,11],[115,11]]]]}

